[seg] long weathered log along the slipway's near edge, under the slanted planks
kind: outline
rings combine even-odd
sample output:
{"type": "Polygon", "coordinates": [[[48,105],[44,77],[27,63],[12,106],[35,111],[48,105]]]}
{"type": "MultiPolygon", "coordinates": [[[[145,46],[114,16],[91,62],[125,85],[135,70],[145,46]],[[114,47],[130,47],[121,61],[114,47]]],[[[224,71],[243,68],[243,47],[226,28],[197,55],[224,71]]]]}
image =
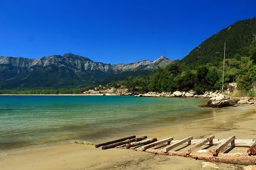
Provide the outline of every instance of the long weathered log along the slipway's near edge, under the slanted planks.
{"type": "Polygon", "coordinates": [[[186,158],[193,158],[195,160],[204,160],[211,162],[219,162],[219,163],[233,163],[238,165],[256,165],[256,156],[248,156],[248,154],[223,154],[219,153],[219,155],[213,156],[210,152],[208,153],[191,153],[186,154],[185,152],[163,152],[161,150],[156,150],[152,148],[148,148],[145,152],[167,155],[167,156],[184,156],[186,158]]]}

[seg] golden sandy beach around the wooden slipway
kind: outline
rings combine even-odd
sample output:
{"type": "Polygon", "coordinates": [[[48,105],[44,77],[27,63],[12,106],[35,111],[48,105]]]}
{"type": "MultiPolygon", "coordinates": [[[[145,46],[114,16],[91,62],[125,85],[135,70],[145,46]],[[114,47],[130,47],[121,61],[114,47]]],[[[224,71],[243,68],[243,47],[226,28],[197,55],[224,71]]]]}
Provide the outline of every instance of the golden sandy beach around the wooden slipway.
{"type": "MultiPolygon", "coordinates": [[[[215,109],[211,116],[186,124],[169,125],[136,135],[174,137],[182,139],[214,134],[223,139],[236,135],[237,139],[256,138],[256,106],[215,109]]],[[[116,138],[116,137],[115,137],[116,138]]],[[[107,139],[106,139],[107,140],[107,139]]],[[[102,142],[102,141],[99,141],[102,142]]],[[[240,165],[217,163],[220,169],[242,169],[240,165]]],[[[74,141],[30,146],[18,150],[0,151],[0,169],[205,169],[202,161],[177,156],[159,156],[146,152],[114,148],[100,150],[74,141]]]]}

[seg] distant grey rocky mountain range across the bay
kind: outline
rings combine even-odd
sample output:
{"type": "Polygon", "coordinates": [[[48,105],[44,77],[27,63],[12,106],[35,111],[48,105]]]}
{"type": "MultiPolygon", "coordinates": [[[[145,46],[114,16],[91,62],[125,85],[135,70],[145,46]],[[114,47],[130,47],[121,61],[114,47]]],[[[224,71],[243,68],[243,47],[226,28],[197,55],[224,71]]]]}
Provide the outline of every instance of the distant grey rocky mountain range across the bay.
{"type": "Polygon", "coordinates": [[[107,82],[108,77],[120,74],[125,77],[139,73],[149,74],[158,67],[165,67],[176,61],[161,56],[154,61],[111,65],[71,53],[39,59],[0,56],[0,88],[83,86],[93,82],[107,82]]]}

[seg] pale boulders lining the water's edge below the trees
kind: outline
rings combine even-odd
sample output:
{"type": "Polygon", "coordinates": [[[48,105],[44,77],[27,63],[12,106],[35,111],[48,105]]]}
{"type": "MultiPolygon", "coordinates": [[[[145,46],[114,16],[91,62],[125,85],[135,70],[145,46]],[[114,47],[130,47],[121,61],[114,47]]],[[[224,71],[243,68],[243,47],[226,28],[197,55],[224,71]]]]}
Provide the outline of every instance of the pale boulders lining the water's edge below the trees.
{"type": "Polygon", "coordinates": [[[205,105],[200,107],[230,107],[238,105],[256,105],[256,97],[230,97],[223,95],[221,92],[205,92],[197,95],[194,90],[188,92],[175,91],[171,92],[148,92],[134,95],[135,97],[184,97],[184,98],[200,98],[209,99],[205,105]]]}

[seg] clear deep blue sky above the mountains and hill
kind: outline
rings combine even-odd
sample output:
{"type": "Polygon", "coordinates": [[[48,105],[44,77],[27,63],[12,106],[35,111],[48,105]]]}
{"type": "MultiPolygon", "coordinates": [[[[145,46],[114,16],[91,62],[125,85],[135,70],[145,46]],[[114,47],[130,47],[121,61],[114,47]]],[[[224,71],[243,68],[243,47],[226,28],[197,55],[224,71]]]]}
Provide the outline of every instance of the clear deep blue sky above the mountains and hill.
{"type": "Polygon", "coordinates": [[[0,56],[181,59],[213,33],[253,16],[255,0],[1,0],[0,56]]]}

